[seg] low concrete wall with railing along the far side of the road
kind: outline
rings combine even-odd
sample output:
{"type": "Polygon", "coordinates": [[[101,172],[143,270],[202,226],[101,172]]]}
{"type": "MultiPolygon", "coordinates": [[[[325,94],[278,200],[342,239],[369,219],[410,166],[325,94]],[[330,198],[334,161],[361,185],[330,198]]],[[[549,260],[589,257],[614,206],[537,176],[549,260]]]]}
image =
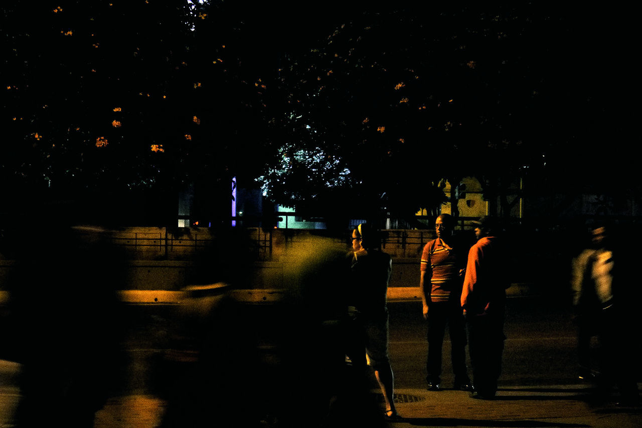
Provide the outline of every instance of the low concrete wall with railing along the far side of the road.
{"type": "MultiPolygon", "coordinates": [[[[122,250],[117,254],[121,254],[123,259],[108,261],[114,264],[114,269],[122,269],[123,272],[123,283],[114,284],[116,290],[182,290],[194,282],[193,274],[198,268],[195,256],[212,245],[218,245],[217,237],[208,229],[183,229],[176,233],[157,227],[132,227],[117,231],[92,229],[83,233],[94,238],[98,234],[122,250]]],[[[266,238],[260,229],[247,230],[247,234],[250,241],[260,242],[266,238]]],[[[384,231],[383,250],[393,257],[391,287],[416,287],[419,284],[421,251],[433,236],[431,230],[384,231]]],[[[249,265],[252,272],[239,272],[239,275],[250,276],[243,287],[277,290],[291,286],[296,281],[293,272],[304,268],[302,263],[306,263],[306,258],[315,252],[324,249],[349,251],[347,237],[324,236],[323,231],[311,230],[275,229],[272,231],[271,251],[270,242],[263,241],[262,245],[265,257],[259,257],[249,265]]],[[[14,266],[14,261],[0,258],[0,290],[10,288],[8,274],[14,266]]],[[[216,282],[216,277],[213,282],[216,282]]]]}

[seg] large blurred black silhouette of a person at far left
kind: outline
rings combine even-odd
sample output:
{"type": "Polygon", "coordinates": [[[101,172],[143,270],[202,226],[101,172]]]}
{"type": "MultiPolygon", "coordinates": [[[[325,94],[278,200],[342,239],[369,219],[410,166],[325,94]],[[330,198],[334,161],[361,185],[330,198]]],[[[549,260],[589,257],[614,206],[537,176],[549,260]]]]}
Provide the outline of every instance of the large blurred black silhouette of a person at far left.
{"type": "Polygon", "coordinates": [[[100,229],[70,227],[52,210],[46,217],[13,236],[8,283],[22,365],[15,426],[91,428],[123,374],[122,272],[100,229]]]}

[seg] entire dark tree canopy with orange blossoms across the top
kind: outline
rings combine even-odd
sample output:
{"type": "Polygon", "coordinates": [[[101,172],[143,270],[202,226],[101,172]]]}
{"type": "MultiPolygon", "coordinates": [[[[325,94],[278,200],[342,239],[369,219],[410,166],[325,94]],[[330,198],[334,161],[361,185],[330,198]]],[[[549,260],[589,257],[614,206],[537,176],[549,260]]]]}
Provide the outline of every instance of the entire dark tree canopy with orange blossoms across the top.
{"type": "Polygon", "coordinates": [[[220,211],[233,177],[402,216],[443,179],[629,178],[625,10],[417,4],[5,2],[0,179],[165,222],[191,183],[220,211]]]}

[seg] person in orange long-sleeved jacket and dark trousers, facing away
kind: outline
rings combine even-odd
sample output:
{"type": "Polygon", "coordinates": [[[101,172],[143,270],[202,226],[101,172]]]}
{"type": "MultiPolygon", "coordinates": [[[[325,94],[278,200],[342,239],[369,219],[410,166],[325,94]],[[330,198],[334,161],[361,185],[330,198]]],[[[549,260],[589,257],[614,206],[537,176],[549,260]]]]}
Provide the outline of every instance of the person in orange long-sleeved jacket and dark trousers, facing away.
{"type": "Polygon", "coordinates": [[[477,242],[468,252],[461,304],[469,334],[469,354],[473,366],[471,397],[493,399],[501,374],[504,349],[507,252],[498,237],[494,217],[473,222],[477,242]]]}

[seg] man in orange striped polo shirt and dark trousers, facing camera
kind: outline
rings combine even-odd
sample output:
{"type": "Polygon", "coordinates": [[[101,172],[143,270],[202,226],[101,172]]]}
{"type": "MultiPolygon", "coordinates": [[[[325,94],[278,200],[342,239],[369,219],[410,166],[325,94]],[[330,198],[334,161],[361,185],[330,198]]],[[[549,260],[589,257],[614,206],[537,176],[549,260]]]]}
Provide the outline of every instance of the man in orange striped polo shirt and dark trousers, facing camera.
{"type": "Polygon", "coordinates": [[[449,214],[435,219],[437,238],[424,246],[421,256],[419,288],[423,316],[428,320],[428,390],[441,386],[442,346],[446,325],[451,340],[451,359],[455,389],[472,390],[466,367],[466,326],[460,299],[466,265],[467,247],[453,236],[455,220],[449,214]]]}

